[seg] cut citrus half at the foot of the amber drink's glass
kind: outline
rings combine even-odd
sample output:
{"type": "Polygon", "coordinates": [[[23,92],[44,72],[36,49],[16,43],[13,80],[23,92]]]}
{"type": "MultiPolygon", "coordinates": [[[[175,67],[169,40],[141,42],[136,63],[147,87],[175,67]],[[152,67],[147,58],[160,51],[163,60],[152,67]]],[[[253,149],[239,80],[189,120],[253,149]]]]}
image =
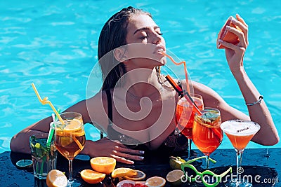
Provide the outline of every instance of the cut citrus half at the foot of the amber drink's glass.
{"type": "Polygon", "coordinates": [[[65,187],[67,186],[67,178],[60,170],[53,169],[48,172],[46,183],[48,187],[65,187]]]}

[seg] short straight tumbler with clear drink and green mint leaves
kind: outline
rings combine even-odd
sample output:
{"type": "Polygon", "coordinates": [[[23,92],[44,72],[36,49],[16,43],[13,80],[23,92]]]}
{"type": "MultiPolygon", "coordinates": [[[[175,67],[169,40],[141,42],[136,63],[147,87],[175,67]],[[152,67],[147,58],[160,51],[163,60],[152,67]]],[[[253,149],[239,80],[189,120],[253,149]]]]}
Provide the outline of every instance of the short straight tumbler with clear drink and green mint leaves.
{"type": "Polygon", "coordinates": [[[46,179],[51,169],[56,169],[57,151],[53,144],[47,144],[48,133],[34,134],[30,136],[30,148],[32,153],[33,173],[38,179],[46,179]]]}

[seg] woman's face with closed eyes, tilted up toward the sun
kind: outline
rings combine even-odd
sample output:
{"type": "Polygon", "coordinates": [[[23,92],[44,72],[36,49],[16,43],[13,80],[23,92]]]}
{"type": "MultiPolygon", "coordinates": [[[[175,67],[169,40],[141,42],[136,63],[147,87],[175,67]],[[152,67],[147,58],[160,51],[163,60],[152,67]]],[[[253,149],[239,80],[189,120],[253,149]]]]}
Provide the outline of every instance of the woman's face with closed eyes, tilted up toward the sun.
{"type": "Polygon", "coordinates": [[[133,15],[127,26],[127,55],[131,62],[138,61],[143,67],[157,67],[166,64],[165,41],[160,28],[146,14],[133,15]],[[141,62],[140,62],[141,59],[141,62]]]}

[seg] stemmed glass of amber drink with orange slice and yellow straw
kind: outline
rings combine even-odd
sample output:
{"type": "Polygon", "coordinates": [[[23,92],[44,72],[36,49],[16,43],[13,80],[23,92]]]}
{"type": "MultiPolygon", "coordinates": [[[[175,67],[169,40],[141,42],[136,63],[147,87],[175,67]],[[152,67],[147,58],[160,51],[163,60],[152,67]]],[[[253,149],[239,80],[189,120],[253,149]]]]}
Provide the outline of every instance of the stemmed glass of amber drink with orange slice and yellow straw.
{"type": "Polygon", "coordinates": [[[85,145],[85,131],[82,116],[77,112],[60,113],[65,124],[55,122],[55,147],[69,161],[70,177],[67,186],[80,186],[72,177],[72,160],[85,145]]]}

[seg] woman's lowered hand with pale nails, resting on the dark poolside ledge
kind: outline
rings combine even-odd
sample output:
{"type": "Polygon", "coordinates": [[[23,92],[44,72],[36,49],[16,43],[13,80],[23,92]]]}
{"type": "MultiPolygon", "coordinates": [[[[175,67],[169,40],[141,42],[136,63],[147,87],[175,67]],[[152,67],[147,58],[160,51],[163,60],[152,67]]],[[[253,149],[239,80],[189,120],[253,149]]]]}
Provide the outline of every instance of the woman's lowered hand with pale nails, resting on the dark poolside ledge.
{"type": "Polygon", "coordinates": [[[104,137],[98,141],[87,140],[81,153],[89,155],[91,158],[107,156],[115,158],[117,162],[133,164],[133,160],[143,160],[144,151],[127,148],[123,144],[104,137]]]}

